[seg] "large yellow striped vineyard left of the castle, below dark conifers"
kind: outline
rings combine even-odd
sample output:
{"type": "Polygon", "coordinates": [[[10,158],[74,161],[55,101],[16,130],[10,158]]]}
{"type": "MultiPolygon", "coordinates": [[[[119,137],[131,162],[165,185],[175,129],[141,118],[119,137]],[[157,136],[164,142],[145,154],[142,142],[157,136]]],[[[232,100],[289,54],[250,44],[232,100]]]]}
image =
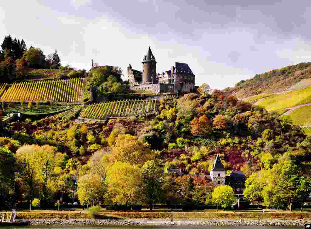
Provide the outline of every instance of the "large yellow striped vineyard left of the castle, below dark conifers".
{"type": "MultiPolygon", "coordinates": [[[[4,91],[2,102],[82,102],[85,79],[74,78],[67,80],[44,80],[13,83],[4,91]]],[[[0,85],[0,92],[4,85],[0,85]]],[[[4,90],[4,89],[3,89],[4,90]]],[[[1,93],[0,93],[1,95],[1,93]]]]}

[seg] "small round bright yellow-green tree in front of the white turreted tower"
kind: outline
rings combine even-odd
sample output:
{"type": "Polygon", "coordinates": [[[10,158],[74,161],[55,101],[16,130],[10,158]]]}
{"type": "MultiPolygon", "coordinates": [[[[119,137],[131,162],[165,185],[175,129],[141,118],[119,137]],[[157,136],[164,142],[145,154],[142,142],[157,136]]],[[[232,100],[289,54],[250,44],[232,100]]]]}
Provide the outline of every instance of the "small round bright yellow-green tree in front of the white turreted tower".
{"type": "Polygon", "coordinates": [[[220,185],[216,187],[212,194],[212,199],[214,203],[217,204],[217,211],[218,205],[225,209],[236,201],[233,189],[229,185],[220,185]]]}

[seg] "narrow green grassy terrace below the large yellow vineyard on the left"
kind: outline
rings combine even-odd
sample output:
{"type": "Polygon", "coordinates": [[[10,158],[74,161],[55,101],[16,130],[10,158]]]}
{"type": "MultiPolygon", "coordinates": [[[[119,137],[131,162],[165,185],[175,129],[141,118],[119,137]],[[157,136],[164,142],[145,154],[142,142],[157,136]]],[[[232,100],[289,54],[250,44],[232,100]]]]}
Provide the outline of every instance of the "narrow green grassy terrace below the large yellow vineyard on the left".
{"type": "Polygon", "coordinates": [[[6,107],[4,111],[7,113],[22,113],[26,115],[43,115],[62,110],[67,110],[71,107],[68,106],[47,106],[47,105],[32,105],[32,108],[28,108],[27,103],[24,105],[14,105],[14,107],[6,107]]]}

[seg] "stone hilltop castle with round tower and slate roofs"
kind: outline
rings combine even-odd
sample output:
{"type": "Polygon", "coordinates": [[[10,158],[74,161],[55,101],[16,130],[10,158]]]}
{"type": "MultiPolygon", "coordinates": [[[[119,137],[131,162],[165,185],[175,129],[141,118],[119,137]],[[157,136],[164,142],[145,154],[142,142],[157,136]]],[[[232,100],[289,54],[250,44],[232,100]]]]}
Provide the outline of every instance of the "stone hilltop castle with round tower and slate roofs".
{"type": "Polygon", "coordinates": [[[195,75],[186,63],[175,62],[170,70],[156,73],[156,58],[149,47],[142,59],[142,72],[128,65],[128,79],[132,90],[155,93],[189,93],[195,90],[195,75]]]}

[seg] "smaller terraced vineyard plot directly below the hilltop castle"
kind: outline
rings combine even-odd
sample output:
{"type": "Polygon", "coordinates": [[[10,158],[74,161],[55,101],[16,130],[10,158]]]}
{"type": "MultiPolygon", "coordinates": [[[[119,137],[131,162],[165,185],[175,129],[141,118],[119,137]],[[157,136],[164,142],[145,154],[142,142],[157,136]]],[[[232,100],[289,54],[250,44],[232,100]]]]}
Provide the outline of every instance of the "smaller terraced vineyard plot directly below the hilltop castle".
{"type": "Polygon", "coordinates": [[[121,100],[97,103],[86,106],[81,117],[90,119],[105,119],[105,117],[126,117],[156,110],[156,100],[121,100]]]}

